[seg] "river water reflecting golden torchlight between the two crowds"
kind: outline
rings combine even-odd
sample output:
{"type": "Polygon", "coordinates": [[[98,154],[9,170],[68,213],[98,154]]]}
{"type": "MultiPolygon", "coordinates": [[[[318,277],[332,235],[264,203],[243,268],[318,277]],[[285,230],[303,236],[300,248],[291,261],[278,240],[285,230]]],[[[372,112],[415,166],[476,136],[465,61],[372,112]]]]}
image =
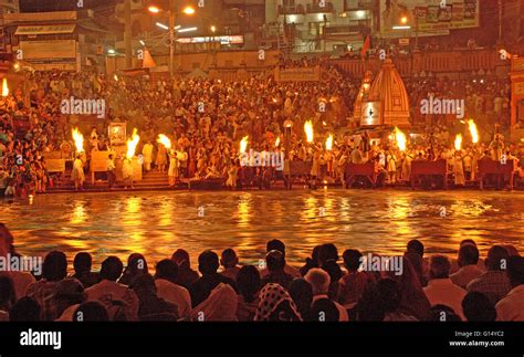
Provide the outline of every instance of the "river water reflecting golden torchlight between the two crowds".
{"type": "Polygon", "coordinates": [[[0,221],[17,250],[45,255],[61,250],[125,262],[132,252],[154,264],[184,248],[234,248],[242,263],[263,259],[265,242],[281,239],[287,260],[300,265],[316,244],[333,242],[380,254],[400,254],[420,239],[428,253],[454,256],[474,239],[481,254],[495,243],[524,253],[524,192],[293,190],[247,192],[109,192],[0,200],[0,221]]]}

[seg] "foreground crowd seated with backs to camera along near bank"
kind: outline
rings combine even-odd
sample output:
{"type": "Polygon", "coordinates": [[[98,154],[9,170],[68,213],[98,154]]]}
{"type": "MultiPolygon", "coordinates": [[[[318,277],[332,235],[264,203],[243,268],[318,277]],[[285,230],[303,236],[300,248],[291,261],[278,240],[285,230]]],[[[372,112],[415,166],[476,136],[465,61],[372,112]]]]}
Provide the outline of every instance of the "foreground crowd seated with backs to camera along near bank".
{"type": "MultiPolygon", "coordinates": [[[[0,256],[18,256],[12,242],[2,225],[0,256]]],[[[107,256],[95,272],[90,253],[77,253],[70,270],[66,255],[53,251],[40,276],[0,272],[0,321],[524,321],[524,258],[512,245],[493,245],[482,260],[475,242],[463,240],[450,260],[427,256],[419,240],[390,258],[353,248],[340,258],[326,243],[300,267],[286,254],[271,240],[256,265],[242,264],[233,249],[220,256],[207,250],[195,270],[178,249],[154,269],[133,253],[126,266],[107,256]],[[366,256],[399,263],[366,264],[366,256]]]]}

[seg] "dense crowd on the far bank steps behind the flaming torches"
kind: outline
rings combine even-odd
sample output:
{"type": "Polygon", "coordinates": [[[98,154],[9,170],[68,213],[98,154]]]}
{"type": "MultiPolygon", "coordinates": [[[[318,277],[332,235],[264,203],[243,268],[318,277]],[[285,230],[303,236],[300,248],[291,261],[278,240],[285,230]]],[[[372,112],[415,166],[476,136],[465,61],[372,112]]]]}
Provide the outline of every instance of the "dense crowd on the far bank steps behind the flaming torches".
{"type": "MultiPolygon", "coordinates": [[[[19,197],[45,192],[62,179],[48,172],[45,156],[64,147],[73,151],[71,130],[82,118],[61,113],[62,99],[70,97],[104,99],[107,108],[98,125],[91,133],[83,133],[86,155],[70,153],[77,160],[73,177],[77,189],[84,185],[83,170],[90,167],[92,150],[112,148],[107,128],[115,122],[126,123],[128,132],[137,128],[140,141],[136,155],[143,156],[144,170],[166,172],[170,186],[176,186],[182,177],[222,178],[231,188],[247,185],[239,141],[248,137],[249,149],[282,153],[286,120],[293,122],[291,159],[313,162],[308,172],[313,178],[342,181],[346,162],[375,159],[380,164],[385,181],[397,185],[409,177],[411,160],[446,158],[454,168],[463,167],[464,174],[455,175],[460,186],[460,177],[474,177],[468,172],[474,172],[475,161],[483,156],[500,159],[506,155],[520,160],[521,167],[524,164],[523,148],[500,135],[509,115],[507,81],[475,83],[471,78],[450,81],[429,76],[406,80],[412,118],[417,122],[413,124],[423,130],[416,137],[409,136],[407,149],[400,150],[395,140],[371,145],[368,134],[353,132],[353,107],[360,81],[319,60],[285,61],[282,65],[323,66],[325,78],[276,82],[271,74],[260,74],[237,82],[169,81],[109,77],[88,72],[35,72],[29,76],[25,92],[15,88],[0,102],[0,192],[19,197]],[[427,115],[421,119],[417,112],[420,101],[428,96],[464,98],[465,115],[475,118],[484,144],[464,145],[457,154],[452,140],[459,133],[465,137],[467,128],[446,115],[427,115]],[[27,119],[25,127],[17,126],[21,118],[27,119]],[[314,143],[305,140],[305,120],[313,123],[314,143]],[[157,141],[159,134],[171,140],[170,148],[157,141]],[[324,145],[329,134],[335,136],[332,149],[324,145]]],[[[275,178],[269,167],[258,167],[254,174],[250,172],[253,175],[259,182],[275,178]]],[[[113,185],[109,182],[109,187],[113,185]]]]}

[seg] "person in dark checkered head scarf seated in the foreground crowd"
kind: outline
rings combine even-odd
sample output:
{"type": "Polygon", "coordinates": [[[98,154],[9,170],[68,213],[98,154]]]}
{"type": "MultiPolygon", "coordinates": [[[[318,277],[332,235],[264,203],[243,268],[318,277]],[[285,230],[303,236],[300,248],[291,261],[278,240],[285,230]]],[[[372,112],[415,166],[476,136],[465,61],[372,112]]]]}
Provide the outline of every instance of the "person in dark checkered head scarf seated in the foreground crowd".
{"type": "Polygon", "coordinates": [[[260,292],[254,321],[297,322],[302,317],[287,291],[279,284],[269,283],[260,292]]]}

